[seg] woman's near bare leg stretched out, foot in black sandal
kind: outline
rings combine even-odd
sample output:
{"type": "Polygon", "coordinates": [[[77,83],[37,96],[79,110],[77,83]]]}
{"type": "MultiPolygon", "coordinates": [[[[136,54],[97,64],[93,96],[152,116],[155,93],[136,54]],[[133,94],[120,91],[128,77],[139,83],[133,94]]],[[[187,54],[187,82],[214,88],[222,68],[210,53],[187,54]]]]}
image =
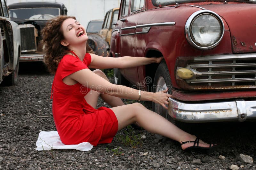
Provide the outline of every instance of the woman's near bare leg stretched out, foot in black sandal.
{"type": "MultiPolygon", "coordinates": [[[[181,141],[193,141],[195,136],[182,131],[177,126],[166,120],[164,117],[157,113],[148,110],[140,103],[133,103],[124,106],[118,106],[111,108],[114,111],[118,120],[118,131],[123,129],[129,124],[138,122],[145,130],[156,133],[178,142],[181,141]]],[[[194,143],[187,143],[182,145],[182,149],[192,146],[194,143]]],[[[200,146],[209,147],[208,144],[203,141],[199,141],[200,146]]]]}

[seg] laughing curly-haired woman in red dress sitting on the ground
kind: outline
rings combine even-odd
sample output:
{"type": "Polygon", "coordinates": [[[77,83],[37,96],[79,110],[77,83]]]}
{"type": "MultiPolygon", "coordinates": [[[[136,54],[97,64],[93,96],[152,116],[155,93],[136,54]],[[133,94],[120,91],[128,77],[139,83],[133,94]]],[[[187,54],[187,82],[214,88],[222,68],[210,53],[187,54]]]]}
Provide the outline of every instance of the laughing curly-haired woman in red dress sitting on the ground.
{"type": "Polygon", "coordinates": [[[167,109],[165,105],[172,97],[166,93],[168,89],[152,93],[112,84],[99,70],[160,63],[163,57],[112,58],[95,55],[86,45],[87,34],[75,17],[56,17],[42,33],[44,62],[55,74],[52,84],[53,118],[64,144],[90,142],[96,146],[111,143],[117,131],[138,122],[149,132],[180,142],[185,151],[208,150],[216,146],[180,130],[140,103],[124,105],[120,99],[152,101],[167,109]],[[99,69],[91,71],[88,67],[99,69]],[[96,109],[99,96],[112,108],[96,109]]]}

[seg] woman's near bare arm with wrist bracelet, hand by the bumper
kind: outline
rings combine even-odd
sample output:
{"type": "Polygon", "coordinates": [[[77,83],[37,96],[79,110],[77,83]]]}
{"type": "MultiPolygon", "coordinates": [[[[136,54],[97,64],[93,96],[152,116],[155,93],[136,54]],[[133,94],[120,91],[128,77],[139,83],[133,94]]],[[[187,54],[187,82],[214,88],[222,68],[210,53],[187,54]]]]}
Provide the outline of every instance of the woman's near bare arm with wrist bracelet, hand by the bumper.
{"type": "MultiPolygon", "coordinates": [[[[98,91],[100,93],[108,94],[111,96],[116,96],[125,99],[138,100],[139,90],[132,89],[126,86],[112,84],[104,78],[93,73],[90,69],[79,70],[69,77],[80,84],[88,87],[92,90],[98,91]]],[[[167,99],[172,95],[167,94],[167,90],[159,91],[157,93],[141,91],[140,100],[152,101],[161,104],[165,109],[168,109],[165,104],[168,104],[167,99]]]]}

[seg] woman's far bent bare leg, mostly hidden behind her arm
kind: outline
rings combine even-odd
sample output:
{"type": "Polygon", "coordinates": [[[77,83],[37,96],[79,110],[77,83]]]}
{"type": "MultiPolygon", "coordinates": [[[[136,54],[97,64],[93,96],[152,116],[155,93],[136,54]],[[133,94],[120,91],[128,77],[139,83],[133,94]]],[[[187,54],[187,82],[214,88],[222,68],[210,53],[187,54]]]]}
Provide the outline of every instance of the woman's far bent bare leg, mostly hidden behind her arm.
{"type": "MultiPolygon", "coordinates": [[[[96,69],[96,70],[93,70],[92,72],[108,80],[107,76],[101,70],[96,69]]],[[[99,92],[94,90],[91,90],[86,96],[84,96],[84,98],[88,104],[90,104],[93,108],[96,108],[99,96],[111,107],[124,105],[124,102],[119,97],[110,96],[108,94],[100,94],[99,92]]]]}

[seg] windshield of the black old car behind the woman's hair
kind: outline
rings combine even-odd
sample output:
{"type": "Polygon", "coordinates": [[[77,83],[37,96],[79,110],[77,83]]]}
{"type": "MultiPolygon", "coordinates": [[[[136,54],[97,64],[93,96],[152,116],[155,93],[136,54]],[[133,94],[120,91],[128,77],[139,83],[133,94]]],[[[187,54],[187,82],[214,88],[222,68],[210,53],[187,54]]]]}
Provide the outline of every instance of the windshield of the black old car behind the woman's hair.
{"type": "Polygon", "coordinates": [[[9,10],[10,17],[25,20],[49,20],[60,15],[59,8],[22,8],[9,10]]]}

